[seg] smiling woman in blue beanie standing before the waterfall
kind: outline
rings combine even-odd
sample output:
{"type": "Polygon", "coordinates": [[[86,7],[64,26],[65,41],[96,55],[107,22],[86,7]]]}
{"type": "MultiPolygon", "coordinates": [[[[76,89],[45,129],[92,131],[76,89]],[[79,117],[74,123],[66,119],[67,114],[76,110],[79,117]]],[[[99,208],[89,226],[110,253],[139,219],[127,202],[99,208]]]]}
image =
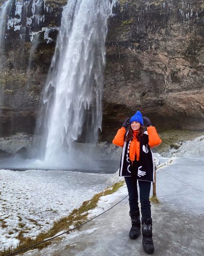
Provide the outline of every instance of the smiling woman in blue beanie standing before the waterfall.
{"type": "Polygon", "coordinates": [[[142,117],[140,111],[131,117],[130,125],[127,118],[122,128],[118,130],[113,144],[122,146],[119,175],[124,176],[129,192],[130,216],[132,227],[129,232],[131,239],[136,239],[141,233],[140,210],[138,206],[137,181],[140,188],[140,203],[142,214],[142,245],[151,254],[155,247],[152,240],[152,219],[149,193],[151,182],[154,182],[155,163],[150,147],[159,145],[162,141],[156,128],[147,117],[142,117]],[[147,131],[144,131],[143,119],[147,131]]]}

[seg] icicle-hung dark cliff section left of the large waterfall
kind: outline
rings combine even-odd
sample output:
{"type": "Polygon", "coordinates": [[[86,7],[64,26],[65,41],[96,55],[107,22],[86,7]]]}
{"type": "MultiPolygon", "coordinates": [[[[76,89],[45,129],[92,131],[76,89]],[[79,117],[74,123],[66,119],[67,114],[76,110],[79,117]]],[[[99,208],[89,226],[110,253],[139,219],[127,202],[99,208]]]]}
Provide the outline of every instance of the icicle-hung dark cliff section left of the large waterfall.
{"type": "Polygon", "coordinates": [[[34,133],[66,1],[11,0],[1,51],[0,134],[34,133]]]}

